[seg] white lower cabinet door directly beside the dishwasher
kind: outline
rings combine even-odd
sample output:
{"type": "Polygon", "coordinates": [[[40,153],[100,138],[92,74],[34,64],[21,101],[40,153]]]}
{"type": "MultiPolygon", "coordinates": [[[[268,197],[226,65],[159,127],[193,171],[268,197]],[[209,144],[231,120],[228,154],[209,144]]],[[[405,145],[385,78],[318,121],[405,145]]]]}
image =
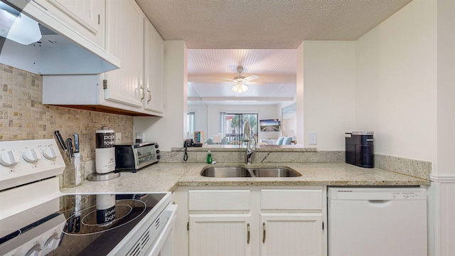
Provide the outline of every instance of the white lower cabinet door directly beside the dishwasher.
{"type": "Polygon", "coordinates": [[[261,213],[261,255],[323,255],[322,215],[261,213]]]}

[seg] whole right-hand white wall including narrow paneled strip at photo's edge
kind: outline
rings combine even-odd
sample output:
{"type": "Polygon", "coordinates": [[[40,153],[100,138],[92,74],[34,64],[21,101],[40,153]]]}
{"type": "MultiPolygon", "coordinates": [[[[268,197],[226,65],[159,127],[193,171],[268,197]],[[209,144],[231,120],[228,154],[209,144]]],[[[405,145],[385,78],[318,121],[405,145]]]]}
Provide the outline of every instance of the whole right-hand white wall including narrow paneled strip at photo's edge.
{"type": "Polygon", "coordinates": [[[429,255],[455,253],[455,1],[414,0],[358,39],[357,126],[375,152],[432,161],[429,255]]]}

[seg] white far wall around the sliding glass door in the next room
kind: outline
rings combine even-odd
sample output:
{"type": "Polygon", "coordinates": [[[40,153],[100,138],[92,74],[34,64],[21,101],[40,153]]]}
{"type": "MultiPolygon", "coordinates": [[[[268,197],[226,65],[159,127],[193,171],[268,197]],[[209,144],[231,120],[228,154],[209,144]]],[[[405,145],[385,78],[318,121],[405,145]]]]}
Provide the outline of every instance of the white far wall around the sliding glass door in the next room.
{"type": "MultiPolygon", "coordinates": [[[[221,132],[220,112],[238,113],[238,114],[258,114],[260,119],[282,119],[282,112],[279,105],[208,105],[208,134],[206,137],[212,137],[213,134],[221,132]]],[[[259,139],[278,139],[280,132],[259,132],[259,139]]]]}

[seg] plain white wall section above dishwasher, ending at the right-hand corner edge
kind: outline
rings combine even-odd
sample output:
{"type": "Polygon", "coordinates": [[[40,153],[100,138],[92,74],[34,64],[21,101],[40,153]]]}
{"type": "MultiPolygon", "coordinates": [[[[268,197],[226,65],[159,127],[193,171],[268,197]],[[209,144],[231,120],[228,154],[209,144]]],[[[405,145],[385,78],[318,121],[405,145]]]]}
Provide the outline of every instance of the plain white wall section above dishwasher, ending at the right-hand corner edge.
{"type": "Polygon", "coordinates": [[[436,1],[412,1],[356,42],[356,129],[375,153],[437,161],[436,1]]]}

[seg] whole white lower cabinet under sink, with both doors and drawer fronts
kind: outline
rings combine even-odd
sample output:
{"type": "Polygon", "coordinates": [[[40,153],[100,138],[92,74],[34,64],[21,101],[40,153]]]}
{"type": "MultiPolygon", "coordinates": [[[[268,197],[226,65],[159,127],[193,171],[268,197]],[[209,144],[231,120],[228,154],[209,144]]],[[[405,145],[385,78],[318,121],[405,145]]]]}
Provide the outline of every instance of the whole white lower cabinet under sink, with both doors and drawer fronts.
{"type": "Polygon", "coordinates": [[[178,187],[176,255],[326,255],[323,186],[235,188],[178,187]]]}

